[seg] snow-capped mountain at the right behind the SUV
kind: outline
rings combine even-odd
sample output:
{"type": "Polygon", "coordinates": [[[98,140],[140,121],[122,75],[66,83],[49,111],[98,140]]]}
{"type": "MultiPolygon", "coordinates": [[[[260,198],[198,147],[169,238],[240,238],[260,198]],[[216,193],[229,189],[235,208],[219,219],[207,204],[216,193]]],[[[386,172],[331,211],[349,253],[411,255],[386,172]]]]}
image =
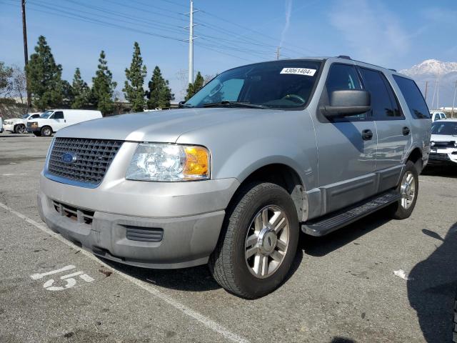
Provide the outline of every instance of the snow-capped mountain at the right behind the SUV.
{"type": "Polygon", "coordinates": [[[426,101],[430,109],[452,106],[454,87],[457,81],[457,62],[426,59],[400,72],[412,77],[424,96],[427,85],[426,101]]]}

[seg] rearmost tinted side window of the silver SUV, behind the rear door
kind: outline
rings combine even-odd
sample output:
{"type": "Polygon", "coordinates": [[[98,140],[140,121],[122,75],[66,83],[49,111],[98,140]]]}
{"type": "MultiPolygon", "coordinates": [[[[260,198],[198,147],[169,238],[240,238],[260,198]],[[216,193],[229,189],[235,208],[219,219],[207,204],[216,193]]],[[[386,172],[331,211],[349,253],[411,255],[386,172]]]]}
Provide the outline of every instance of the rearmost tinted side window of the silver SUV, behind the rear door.
{"type": "Polygon", "coordinates": [[[398,88],[405,98],[406,104],[408,104],[411,116],[414,119],[430,119],[431,116],[426,101],[423,99],[416,82],[398,75],[393,75],[393,79],[395,79],[398,88]]]}

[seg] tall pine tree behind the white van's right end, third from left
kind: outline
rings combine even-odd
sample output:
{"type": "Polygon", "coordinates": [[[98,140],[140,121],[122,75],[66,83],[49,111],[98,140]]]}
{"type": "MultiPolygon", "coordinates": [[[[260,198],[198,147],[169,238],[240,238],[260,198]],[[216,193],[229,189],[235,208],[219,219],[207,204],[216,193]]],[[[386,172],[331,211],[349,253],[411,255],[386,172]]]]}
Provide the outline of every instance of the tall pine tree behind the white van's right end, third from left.
{"type": "Polygon", "coordinates": [[[105,51],[101,51],[99,58],[99,66],[95,77],[92,78],[92,94],[97,109],[102,114],[109,114],[114,111],[114,89],[117,83],[113,81],[113,74],[108,69],[105,51]]]}

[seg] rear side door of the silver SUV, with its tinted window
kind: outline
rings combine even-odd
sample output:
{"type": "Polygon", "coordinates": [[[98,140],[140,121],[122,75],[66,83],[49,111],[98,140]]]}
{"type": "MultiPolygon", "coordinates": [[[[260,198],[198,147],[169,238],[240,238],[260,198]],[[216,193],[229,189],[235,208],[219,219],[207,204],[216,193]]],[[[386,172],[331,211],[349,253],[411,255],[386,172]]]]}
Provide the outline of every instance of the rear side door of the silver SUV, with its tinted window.
{"type": "Polygon", "coordinates": [[[386,76],[374,69],[359,70],[363,85],[371,93],[370,116],[373,117],[378,132],[375,169],[381,176],[381,192],[395,187],[398,182],[403,155],[411,145],[411,128],[386,76]]]}

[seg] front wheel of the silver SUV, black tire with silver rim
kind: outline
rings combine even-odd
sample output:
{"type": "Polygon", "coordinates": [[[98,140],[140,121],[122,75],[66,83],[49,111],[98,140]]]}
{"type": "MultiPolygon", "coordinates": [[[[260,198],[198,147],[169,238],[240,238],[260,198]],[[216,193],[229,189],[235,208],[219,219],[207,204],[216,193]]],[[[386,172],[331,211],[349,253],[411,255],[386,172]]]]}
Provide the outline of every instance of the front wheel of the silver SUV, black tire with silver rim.
{"type": "Polygon", "coordinates": [[[291,269],[298,232],[296,207],[285,189],[271,183],[247,184],[227,209],[209,259],[210,272],[233,294],[263,297],[278,288],[291,269]]]}

